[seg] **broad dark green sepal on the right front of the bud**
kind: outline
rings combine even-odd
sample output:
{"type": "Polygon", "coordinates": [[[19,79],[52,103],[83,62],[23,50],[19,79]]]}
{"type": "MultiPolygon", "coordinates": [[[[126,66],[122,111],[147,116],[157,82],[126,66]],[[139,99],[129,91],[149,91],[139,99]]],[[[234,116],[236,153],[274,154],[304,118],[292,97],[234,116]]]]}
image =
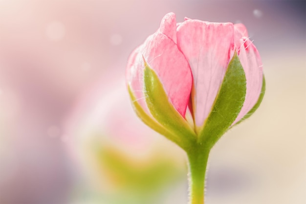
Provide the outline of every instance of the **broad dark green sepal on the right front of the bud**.
{"type": "Polygon", "coordinates": [[[240,113],[246,93],[246,78],[239,57],[235,52],[228,64],[223,82],[213,104],[211,113],[205,120],[198,142],[212,148],[219,138],[230,128],[240,113]]]}

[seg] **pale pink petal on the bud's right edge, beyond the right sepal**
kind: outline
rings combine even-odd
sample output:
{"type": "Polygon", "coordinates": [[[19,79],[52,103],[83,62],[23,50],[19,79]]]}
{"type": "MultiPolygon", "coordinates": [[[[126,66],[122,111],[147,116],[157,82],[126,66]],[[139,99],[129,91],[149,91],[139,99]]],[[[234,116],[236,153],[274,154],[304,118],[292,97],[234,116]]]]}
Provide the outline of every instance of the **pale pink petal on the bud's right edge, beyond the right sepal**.
{"type": "MultiPolygon", "coordinates": [[[[235,36],[236,38],[237,36],[235,36]]],[[[236,41],[236,39],[235,39],[236,41]]],[[[246,95],[243,107],[232,125],[237,123],[256,104],[262,90],[262,60],[253,43],[243,37],[240,44],[236,45],[239,50],[239,59],[246,77],[246,95]]]]}

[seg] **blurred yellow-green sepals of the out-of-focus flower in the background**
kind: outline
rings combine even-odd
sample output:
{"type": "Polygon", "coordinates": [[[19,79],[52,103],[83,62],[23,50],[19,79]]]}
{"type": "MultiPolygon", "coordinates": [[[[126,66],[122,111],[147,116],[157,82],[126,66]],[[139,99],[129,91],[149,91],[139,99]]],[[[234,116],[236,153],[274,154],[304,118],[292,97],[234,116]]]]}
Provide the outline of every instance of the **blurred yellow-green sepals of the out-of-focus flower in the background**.
{"type": "Polygon", "coordinates": [[[101,199],[111,204],[156,203],[158,195],[183,178],[177,164],[158,152],[140,160],[109,145],[95,145],[93,149],[101,174],[115,187],[112,194],[101,194],[101,199]]]}

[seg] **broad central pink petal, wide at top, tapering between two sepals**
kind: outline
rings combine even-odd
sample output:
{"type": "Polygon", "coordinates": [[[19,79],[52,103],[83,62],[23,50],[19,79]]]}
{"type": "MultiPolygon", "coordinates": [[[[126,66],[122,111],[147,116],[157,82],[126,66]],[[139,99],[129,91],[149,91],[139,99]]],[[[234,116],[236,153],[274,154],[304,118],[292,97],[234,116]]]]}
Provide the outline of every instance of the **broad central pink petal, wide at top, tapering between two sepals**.
{"type": "Polygon", "coordinates": [[[234,50],[234,25],[187,20],[177,28],[177,46],[194,78],[193,112],[202,126],[212,109],[234,50]]]}

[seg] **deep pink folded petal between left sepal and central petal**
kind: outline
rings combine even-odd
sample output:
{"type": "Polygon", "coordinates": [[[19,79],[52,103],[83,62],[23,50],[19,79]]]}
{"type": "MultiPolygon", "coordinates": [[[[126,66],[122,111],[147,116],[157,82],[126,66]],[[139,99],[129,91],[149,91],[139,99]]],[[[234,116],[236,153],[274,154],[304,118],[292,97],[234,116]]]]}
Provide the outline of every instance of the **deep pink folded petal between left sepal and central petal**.
{"type": "Polygon", "coordinates": [[[185,117],[192,75],[184,55],[171,39],[161,33],[147,39],[142,54],[158,75],[175,109],[185,117]]]}

